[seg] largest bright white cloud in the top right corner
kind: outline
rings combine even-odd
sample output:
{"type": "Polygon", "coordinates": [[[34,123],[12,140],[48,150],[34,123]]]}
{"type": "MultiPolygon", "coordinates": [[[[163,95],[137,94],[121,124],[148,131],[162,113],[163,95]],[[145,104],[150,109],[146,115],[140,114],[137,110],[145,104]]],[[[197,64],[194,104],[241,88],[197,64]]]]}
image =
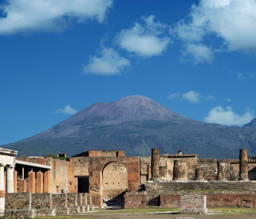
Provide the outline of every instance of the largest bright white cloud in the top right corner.
{"type": "MultiPolygon", "coordinates": [[[[188,19],[180,20],[170,32],[184,43],[206,45],[213,39],[212,44],[216,45],[218,39],[222,51],[255,53],[256,1],[200,0],[198,5],[191,6],[188,19]]],[[[220,48],[215,49],[221,51],[220,48]]],[[[208,54],[207,57],[212,56],[208,54]]],[[[209,62],[212,59],[201,60],[209,62]]]]}

